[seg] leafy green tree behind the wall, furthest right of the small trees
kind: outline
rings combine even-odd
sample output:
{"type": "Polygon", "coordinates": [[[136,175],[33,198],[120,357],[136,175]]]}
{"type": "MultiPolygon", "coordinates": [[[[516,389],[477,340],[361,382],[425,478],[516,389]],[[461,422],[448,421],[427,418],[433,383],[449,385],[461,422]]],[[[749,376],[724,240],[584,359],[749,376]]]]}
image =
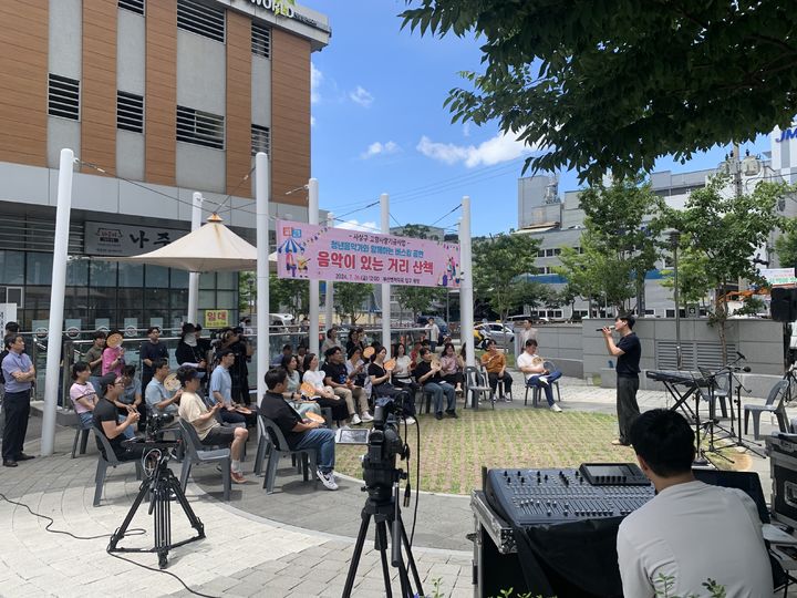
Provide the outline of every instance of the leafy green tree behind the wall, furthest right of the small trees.
{"type": "Polygon", "coordinates": [[[667,209],[665,220],[680,231],[679,290],[686,298],[715,295],[710,321],[718,326],[723,363],[727,358],[728,285],[739,279],[763,283],[753,264],[756,250],[783,226],[777,203],[788,186],[758,183],[751,194],[725,192],[727,177],[717,176],[692,192],[683,210],[667,209]]]}

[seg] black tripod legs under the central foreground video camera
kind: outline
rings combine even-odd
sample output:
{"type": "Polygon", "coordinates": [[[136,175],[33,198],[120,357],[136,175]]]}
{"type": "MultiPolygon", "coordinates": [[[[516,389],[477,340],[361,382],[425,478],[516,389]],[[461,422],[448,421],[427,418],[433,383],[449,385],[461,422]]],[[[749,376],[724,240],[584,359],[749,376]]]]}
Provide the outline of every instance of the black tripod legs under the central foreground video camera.
{"type": "Polygon", "coordinates": [[[423,588],[421,587],[421,577],[418,576],[417,567],[415,566],[415,559],[413,558],[412,547],[410,546],[410,539],[404,528],[404,522],[401,516],[401,507],[398,501],[398,483],[393,484],[393,494],[385,496],[382,487],[366,488],[369,497],[365,499],[365,506],[362,509],[362,523],[360,524],[360,533],[358,534],[356,544],[354,545],[354,554],[352,555],[351,565],[349,566],[349,574],[346,575],[346,582],[343,587],[343,598],[349,598],[354,586],[354,575],[360,565],[360,557],[362,555],[363,545],[365,544],[365,536],[368,535],[368,528],[371,523],[371,518],[376,523],[375,528],[375,548],[380,551],[380,558],[382,560],[382,576],[384,578],[385,596],[387,598],[393,597],[393,589],[391,588],[391,576],[387,567],[387,530],[391,533],[391,565],[398,569],[398,580],[401,582],[401,596],[402,598],[412,598],[413,596],[424,596],[423,588]],[[390,524],[390,526],[387,525],[390,524]],[[413,579],[415,581],[416,591],[413,591],[410,582],[410,575],[407,567],[402,558],[402,545],[406,550],[406,559],[410,565],[410,571],[412,571],[413,579]]]}

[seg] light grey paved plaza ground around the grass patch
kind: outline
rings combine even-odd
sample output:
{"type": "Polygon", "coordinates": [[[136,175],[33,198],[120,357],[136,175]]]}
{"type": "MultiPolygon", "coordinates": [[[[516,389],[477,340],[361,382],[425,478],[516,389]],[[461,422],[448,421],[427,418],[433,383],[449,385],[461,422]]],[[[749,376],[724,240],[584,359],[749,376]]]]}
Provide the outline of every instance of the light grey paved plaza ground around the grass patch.
{"type": "MultiPolygon", "coordinates": [[[[515,401],[499,403],[497,409],[532,409],[522,405],[520,379],[517,373],[515,401]]],[[[613,389],[562,379],[561,391],[566,410],[614,413],[613,389]]],[[[643,410],[672,403],[661,391],[640,391],[639,400],[643,410]]],[[[746,399],[745,403],[748,401],[763,399],[746,399]]],[[[30,454],[39,454],[40,422],[31,419],[25,448],[30,454]]],[[[762,423],[765,433],[773,429],[768,416],[762,423]]],[[[72,430],[59,429],[54,455],[2,468],[0,492],[52,517],[55,529],[83,536],[110,535],[138,491],[134,468],[125,465],[110,471],[101,506],[93,507],[96,448],[92,441],[86,455],[70,458],[73,436],[72,430]]],[[[194,590],[211,596],[340,596],[365,498],[360,492],[362,483],[343,478],[338,492],[327,492],[320,484],[315,488],[313,483],[303,483],[286,461],[276,492],[267,495],[261,478],[251,473],[255,443],[249,446],[245,473],[250,483],[234,486],[229,503],[220,499],[220,475],[215,467],[195,468],[187,496],[205,524],[207,537],[173,550],[167,570],[194,590]]],[[[175,471],[178,467],[174,465],[175,471]]],[[[762,475],[768,495],[768,460],[752,455],[751,468],[762,475]]],[[[414,499],[413,494],[413,507],[414,499]]],[[[173,540],[190,537],[193,529],[178,505],[173,504],[172,515],[173,540]]],[[[404,512],[404,519],[410,527],[412,508],[404,512]]],[[[45,525],[24,508],[0,501],[0,596],[189,595],[168,575],[107,555],[106,538],[76,540],[46,533],[45,525]]],[[[122,546],[152,546],[152,517],[145,509],[131,527],[143,528],[146,534],[127,537],[122,546]]],[[[437,580],[443,596],[473,596],[473,546],[466,537],[473,528],[469,497],[421,494],[413,551],[427,594],[437,580]]],[[[379,554],[371,540],[365,548],[354,596],[384,596],[379,554]]],[[[125,556],[157,568],[155,555],[125,556]]]]}

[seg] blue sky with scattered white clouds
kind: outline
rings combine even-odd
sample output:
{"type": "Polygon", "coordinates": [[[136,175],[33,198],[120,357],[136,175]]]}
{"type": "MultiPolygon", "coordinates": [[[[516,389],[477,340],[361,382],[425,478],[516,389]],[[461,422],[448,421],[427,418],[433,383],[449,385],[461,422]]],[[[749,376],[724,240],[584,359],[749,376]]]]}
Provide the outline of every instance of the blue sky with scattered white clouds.
{"type": "MultiPolygon", "coordinates": [[[[320,204],[351,224],[379,226],[381,193],[391,196],[391,225],[454,228],[463,195],[472,199],[474,235],[517,227],[517,179],[524,148],[497,125],[452,124],[443,106],[458,72],[479,70],[474,39],[421,37],[401,30],[404,0],[304,0],[327,14],[328,48],[312,54],[312,176],[320,204]],[[354,212],[358,210],[358,212],[354,212]]],[[[765,137],[749,147],[768,148],[765,137]]],[[[658,171],[712,168],[717,147],[681,165],[662,158],[658,171]]],[[[578,188],[560,174],[560,192],[578,188]]],[[[340,225],[340,223],[339,223],[340,225]]]]}

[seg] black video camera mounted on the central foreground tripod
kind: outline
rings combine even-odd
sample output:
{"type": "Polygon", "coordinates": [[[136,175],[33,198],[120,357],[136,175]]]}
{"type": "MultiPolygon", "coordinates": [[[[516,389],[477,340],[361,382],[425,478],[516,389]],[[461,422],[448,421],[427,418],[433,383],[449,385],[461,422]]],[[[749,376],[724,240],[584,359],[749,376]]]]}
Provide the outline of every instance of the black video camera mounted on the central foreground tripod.
{"type": "Polygon", "coordinates": [[[368,452],[363,456],[363,480],[369,494],[390,499],[393,484],[406,478],[395,465],[395,457],[410,458],[410,447],[404,443],[395,425],[394,414],[402,406],[392,399],[377,400],[374,409],[373,430],[369,435],[368,452]]]}

